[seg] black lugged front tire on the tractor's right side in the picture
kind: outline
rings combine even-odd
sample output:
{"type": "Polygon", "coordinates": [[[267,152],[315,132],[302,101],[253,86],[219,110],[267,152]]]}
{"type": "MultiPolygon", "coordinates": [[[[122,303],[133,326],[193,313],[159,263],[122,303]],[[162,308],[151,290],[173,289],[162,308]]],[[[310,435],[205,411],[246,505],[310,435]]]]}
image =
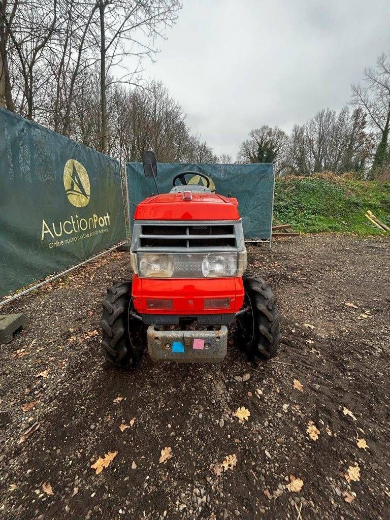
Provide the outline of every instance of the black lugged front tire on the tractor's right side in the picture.
{"type": "Polygon", "coordinates": [[[243,277],[243,281],[244,305],[249,305],[251,309],[244,318],[245,326],[253,331],[248,341],[248,356],[252,360],[267,361],[279,354],[281,334],[277,296],[272,292],[270,283],[261,276],[243,277]]]}

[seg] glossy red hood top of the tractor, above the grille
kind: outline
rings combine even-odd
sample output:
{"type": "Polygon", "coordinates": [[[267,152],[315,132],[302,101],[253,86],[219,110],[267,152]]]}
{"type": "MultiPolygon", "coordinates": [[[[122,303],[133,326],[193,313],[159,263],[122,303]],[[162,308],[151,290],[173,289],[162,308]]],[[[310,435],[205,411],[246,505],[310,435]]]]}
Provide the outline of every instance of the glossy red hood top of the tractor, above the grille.
{"type": "Polygon", "coordinates": [[[135,220],[239,220],[238,201],[216,193],[184,191],[162,193],[140,202],[135,220]]]}

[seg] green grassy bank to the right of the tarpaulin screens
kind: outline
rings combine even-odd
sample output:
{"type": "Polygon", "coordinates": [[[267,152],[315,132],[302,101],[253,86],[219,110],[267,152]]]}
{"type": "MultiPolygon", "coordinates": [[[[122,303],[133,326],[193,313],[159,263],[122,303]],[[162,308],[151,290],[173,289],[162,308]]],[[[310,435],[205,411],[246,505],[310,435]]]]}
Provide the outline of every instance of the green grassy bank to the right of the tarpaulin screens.
{"type": "Polygon", "coordinates": [[[275,184],[274,225],[291,224],[306,233],[382,235],[367,210],[390,226],[390,182],[342,177],[290,177],[275,184]]]}

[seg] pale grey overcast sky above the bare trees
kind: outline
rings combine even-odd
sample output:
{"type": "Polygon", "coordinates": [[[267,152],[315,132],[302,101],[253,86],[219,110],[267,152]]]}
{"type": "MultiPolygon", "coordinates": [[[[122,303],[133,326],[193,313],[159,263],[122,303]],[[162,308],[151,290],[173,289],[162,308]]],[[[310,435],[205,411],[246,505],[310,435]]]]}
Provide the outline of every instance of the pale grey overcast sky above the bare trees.
{"type": "Polygon", "coordinates": [[[390,0],[183,0],[147,77],[161,80],[217,154],[252,128],[289,132],[390,51],[390,0]]]}

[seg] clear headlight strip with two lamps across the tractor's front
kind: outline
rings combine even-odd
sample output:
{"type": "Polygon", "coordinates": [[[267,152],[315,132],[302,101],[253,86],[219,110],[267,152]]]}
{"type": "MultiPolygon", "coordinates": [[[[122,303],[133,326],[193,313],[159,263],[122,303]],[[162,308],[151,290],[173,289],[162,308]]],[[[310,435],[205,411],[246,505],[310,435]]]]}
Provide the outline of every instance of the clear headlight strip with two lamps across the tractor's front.
{"type": "MultiPolygon", "coordinates": [[[[137,253],[140,277],[146,278],[228,278],[242,276],[246,251],[229,253],[137,253]]],[[[133,265],[133,262],[132,262],[133,265]]]]}

